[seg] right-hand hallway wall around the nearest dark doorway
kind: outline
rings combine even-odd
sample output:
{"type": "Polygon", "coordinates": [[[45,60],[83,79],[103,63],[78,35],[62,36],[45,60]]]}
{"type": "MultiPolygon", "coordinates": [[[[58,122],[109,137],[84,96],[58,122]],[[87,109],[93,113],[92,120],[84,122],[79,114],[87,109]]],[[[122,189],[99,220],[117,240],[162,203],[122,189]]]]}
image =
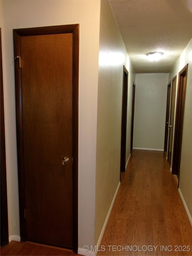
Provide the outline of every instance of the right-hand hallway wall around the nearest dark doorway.
{"type": "Polygon", "coordinates": [[[189,211],[192,225],[192,39],[190,40],[185,50],[182,52],[181,56],[179,57],[169,74],[169,80],[177,75],[177,86],[178,73],[182,70],[182,68],[184,68],[187,63],[188,74],[184,109],[179,189],[182,193],[187,209],[189,211]]]}

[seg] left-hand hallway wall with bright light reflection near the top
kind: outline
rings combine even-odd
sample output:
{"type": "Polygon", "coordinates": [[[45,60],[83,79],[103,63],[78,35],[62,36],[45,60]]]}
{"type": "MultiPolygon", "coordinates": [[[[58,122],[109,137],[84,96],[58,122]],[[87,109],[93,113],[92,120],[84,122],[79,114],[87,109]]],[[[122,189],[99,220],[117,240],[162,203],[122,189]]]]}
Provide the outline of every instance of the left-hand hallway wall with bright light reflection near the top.
{"type": "Polygon", "coordinates": [[[95,245],[120,181],[123,65],[129,72],[126,161],[130,155],[130,112],[135,80],[125,45],[106,0],[101,0],[99,45],[95,245]]]}

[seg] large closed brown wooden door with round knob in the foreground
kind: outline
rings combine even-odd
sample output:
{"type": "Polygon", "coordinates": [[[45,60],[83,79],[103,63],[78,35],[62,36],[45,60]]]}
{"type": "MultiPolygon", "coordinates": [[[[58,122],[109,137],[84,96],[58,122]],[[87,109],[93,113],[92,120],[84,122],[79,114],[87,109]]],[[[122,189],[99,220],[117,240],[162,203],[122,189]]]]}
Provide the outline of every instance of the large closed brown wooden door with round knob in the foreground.
{"type": "Polygon", "coordinates": [[[26,240],[73,248],[73,33],[19,45],[26,240]]]}

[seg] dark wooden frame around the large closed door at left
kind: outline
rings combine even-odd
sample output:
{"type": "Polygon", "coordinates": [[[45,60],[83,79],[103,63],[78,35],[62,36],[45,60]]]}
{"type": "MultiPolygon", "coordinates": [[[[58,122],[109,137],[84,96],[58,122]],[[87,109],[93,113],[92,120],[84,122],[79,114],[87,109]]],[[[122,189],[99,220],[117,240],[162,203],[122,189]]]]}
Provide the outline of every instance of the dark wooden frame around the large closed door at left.
{"type": "MultiPolygon", "coordinates": [[[[79,95],[79,24],[48,26],[27,29],[13,29],[14,56],[21,56],[20,37],[31,35],[73,34],[73,84],[72,84],[72,158],[73,158],[73,251],[78,251],[78,95],[79,95]]],[[[17,161],[19,182],[19,216],[21,241],[26,241],[26,221],[24,209],[25,198],[25,169],[22,128],[22,83],[19,58],[15,60],[15,97],[16,97],[16,134],[17,161]]]]}

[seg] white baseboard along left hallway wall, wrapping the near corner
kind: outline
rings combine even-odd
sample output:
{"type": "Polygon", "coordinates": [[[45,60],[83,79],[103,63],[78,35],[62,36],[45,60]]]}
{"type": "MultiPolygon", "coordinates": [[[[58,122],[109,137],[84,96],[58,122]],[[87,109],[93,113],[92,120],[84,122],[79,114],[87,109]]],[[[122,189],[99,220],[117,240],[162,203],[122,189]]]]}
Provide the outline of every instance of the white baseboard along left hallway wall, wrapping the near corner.
{"type": "MultiPolygon", "coordinates": [[[[128,161],[129,161],[129,159],[128,159],[128,161]]],[[[100,236],[99,236],[99,239],[98,239],[96,248],[99,248],[99,246],[100,246],[100,244],[101,244],[101,240],[102,240],[102,238],[103,238],[103,235],[104,235],[104,232],[105,232],[105,229],[106,229],[106,226],[107,226],[107,222],[108,222],[108,220],[109,220],[109,217],[110,217],[110,214],[111,214],[111,211],[112,211],[112,208],[113,208],[113,204],[114,204],[114,202],[115,202],[115,199],[116,199],[116,196],[117,196],[117,192],[119,191],[120,185],[121,185],[121,182],[119,182],[119,184],[118,184],[118,186],[117,186],[116,192],[115,192],[114,197],[113,197],[113,201],[112,201],[111,206],[110,206],[110,209],[109,209],[109,211],[108,211],[108,213],[107,213],[107,217],[106,217],[106,219],[105,219],[103,228],[102,228],[102,230],[101,230],[101,234],[100,234],[100,236]]],[[[89,248],[89,249],[90,249],[90,248],[89,248]]],[[[90,251],[90,250],[84,251],[83,248],[78,248],[78,254],[85,255],[85,256],[89,256],[89,255],[90,255],[90,256],[95,256],[95,255],[97,255],[97,251],[90,251]]]]}

